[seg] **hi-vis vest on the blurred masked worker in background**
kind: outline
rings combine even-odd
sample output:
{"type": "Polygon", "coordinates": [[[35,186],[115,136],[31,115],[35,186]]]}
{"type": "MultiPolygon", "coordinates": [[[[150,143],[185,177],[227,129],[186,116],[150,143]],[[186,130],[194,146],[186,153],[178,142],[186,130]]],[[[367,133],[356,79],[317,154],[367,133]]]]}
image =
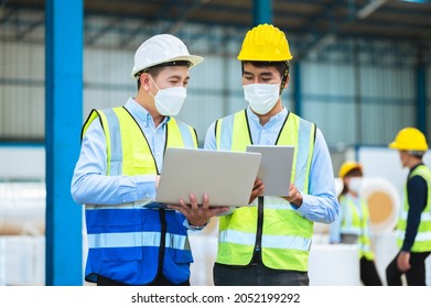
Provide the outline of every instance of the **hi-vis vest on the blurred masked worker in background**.
{"type": "Polygon", "coordinates": [[[343,206],[341,233],[357,235],[359,257],[364,256],[367,260],[374,260],[375,255],[371,251],[371,239],[369,233],[368,206],[363,199],[359,199],[359,202],[360,212],[352,198],[344,195],[340,197],[340,205],[343,206]]]}

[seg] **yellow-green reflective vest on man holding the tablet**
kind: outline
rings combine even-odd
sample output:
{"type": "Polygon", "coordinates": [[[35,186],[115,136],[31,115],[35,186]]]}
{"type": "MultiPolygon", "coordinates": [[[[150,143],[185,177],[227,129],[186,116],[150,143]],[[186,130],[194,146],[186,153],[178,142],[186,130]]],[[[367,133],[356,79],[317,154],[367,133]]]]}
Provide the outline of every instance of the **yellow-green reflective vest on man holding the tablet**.
{"type": "MultiPolygon", "coordinates": [[[[289,112],[276,144],[294,145],[292,179],[308,194],[315,125],[289,112]]],[[[252,144],[246,110],[216,122],[217,150],[244,152],[252,144]]],[[[288,189],[288,188],[287,188],[288,189]]],[[[298,215],[283,198],[265,197],[262,261],[278,270],[308,271],[313,222],[298,215]],[[294,223],[292,223],[294,221],[294,223]]],[[[255,201],[257,204],[257,201],[255,201]]],[[[252,257],[257,232],[257,206],[236,209],[219,217],[217,263],[247,265],[252,257]]]]}

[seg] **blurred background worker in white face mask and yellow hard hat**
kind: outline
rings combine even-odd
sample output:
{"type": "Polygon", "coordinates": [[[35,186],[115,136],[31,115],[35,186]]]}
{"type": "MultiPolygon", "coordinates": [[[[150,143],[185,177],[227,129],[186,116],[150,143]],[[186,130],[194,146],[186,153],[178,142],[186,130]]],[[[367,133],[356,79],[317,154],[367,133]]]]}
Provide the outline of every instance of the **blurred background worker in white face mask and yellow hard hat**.
{"type": "Polygon", "coordinates": [[[330,242],[356,244],[363,285],[381,286],[371,249],[368,205],[360,197],[363,176],[363,165],[357,162],[347,161],[341,166],[338,177],[343,180],[343,190],[338,196],[340,213],[330,226],[330,242]]]}

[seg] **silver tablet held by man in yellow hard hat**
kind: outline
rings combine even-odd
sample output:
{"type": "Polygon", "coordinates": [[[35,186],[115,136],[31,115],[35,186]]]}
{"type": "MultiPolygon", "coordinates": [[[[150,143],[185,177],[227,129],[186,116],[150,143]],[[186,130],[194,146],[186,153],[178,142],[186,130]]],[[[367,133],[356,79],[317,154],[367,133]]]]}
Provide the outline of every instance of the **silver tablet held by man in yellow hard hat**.
{"type": "Polygon", "coordinates": [[[263,180],[263,196],[287,196],[292,178],[294,146],[248,145],[247,152],[262,154],[258,177],[263,180]]]}

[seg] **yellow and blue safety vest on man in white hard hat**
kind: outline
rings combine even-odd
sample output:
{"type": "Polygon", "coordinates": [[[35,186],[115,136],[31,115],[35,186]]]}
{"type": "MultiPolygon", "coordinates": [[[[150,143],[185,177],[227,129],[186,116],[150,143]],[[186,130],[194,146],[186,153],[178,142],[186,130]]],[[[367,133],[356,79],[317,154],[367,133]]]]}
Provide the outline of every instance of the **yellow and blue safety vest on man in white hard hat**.
{"type": "MultiPolygon", "coordinates": [[[[83,136],[96,119],[100,120],[106,138],[107,175],[160,174],[143,132],[126,108],[93,110],[84,124],[83,136]]],[[[165,147],[169,146],[197,147],[194,129],[170,118],[166,123],[165,147]]],[[[86,205],[85,211],[89,249],[86,277],[94,280],[93,273],[98,273],[128,284],[151,282],[159,263],[162,237],[160,211],[143,208],[142,200],[120,206],[86,205]],[[131,252],[130,256],[126,255],[131,252]],[[128,258],[141,258],[143,252],[146,263],[133,263],[137,267],[130,271],[137,273],[127,277],[121,277],[127,273],[117,273],[120,268],[111,268],[100,262],[100,258],[117,261],[116,266],[121,266],[128,258]]],[[[184,219],[176,211],[165,212],[164,249],[175,252],[165,253],[165,261],[173,260],[165,262],[164,275],[173,283],[182,283],[188,278],[190,270],[184,265],[193,262],[187,231],[182,226],[184,219]]]]}

